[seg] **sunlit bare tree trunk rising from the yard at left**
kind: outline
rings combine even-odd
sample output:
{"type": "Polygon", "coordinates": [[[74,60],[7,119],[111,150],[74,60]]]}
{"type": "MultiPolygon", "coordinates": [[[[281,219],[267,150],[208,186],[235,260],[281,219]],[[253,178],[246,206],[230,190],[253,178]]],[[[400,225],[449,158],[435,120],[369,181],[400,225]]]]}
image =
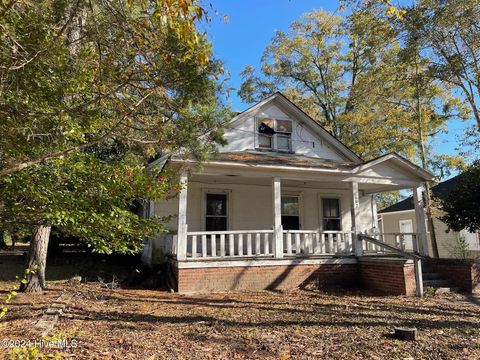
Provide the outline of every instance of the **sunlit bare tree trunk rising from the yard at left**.
{"type": "Polygon", "coordinates": [[[20,291],[36,292],[45,289],[45,267],[47,265],[47,249],[50,240],[51,226],[38,226],[33,232],[28,252],[27,269],[35,269],[27,275],[27,283],[20,285],[20,291]]]}

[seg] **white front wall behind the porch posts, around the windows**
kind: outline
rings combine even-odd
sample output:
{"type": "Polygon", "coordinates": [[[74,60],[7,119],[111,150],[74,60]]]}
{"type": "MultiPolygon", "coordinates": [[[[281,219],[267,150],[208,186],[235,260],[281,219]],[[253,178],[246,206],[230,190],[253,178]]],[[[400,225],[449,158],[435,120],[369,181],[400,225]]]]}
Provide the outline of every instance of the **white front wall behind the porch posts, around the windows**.
{"type": "MultiPolygon", "coordinates": [[[[189,231],[204,230],[205,192],[218,190],[228,192],[229,230],[266,230],[273,226],[272,187],[242,184],[203,184],[189,182],[187,196],[187,224],[189,231]]],[[[304,230],[321,230],[322,197],[338,197],[341,202],[342,230],[351,229],[350,190],[327,190],[310,188],[289,188],[282,186],[282,194],[300,196],[300,223],[304,230]]],[[[361,231],[372,227],[371,197],[360,199],[361,231]]],[[[176,215],[178,199],[157,202],[156,216],[176,215]]],[[[176,231],[177,219],[173,218],[167,227],[176,231]]]]}

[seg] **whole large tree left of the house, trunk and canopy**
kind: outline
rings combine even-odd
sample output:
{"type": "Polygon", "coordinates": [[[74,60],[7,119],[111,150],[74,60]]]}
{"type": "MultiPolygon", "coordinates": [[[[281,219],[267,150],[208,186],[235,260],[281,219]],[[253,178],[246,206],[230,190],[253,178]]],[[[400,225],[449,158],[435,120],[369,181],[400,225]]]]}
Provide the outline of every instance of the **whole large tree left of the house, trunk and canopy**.
{"type": "Polygon", "coordinates": [[[137,251],[161,230],[130,211],[175,190],[145,162],[174,151],[204,158],[228,111],[195,0],[0,6],[0,225],[33,227],[38,271],[25,290],[36,291],[51,226],[101,252],[137,251]]]}

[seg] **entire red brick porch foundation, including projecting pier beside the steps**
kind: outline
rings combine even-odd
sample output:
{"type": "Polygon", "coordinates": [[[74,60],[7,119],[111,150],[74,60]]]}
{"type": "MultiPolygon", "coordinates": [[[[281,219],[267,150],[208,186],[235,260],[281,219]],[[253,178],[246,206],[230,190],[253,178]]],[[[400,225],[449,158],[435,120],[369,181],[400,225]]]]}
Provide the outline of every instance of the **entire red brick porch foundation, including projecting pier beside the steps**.
{"type": "Polygon", "coordinates": [[[232,263],[180,263],[176,266],[178,292],[289,290],[307,285],[318,288],[362,287],[388,295],[415,295],[413,261],[400,258],[331,259],[291,264],[280,260],[232,263]]]}

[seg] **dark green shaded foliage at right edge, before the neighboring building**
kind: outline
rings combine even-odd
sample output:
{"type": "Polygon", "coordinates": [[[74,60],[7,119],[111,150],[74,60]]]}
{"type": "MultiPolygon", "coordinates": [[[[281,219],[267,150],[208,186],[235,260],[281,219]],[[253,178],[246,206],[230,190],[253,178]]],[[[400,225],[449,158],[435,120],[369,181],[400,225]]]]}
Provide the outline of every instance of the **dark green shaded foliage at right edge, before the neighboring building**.
{"type": "Polygon", "coordinates": [[[480,231],[480,161],[458,176],[455,187],[440,196],[440,219],[454,231],[480,231]]]}

